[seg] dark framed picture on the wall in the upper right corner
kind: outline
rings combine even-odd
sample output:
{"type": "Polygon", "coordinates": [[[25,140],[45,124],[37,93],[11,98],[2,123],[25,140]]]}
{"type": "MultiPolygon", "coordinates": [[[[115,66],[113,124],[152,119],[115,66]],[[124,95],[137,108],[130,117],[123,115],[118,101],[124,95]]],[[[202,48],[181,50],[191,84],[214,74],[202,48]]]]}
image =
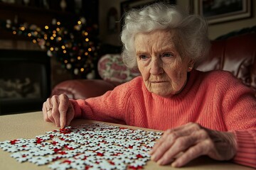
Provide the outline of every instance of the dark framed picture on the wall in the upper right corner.
{"type": "Polygon", "coordinates": [[[191,12],[207,18],[209,24],[251,16],[251,0],[191,0],[191,12]]]}

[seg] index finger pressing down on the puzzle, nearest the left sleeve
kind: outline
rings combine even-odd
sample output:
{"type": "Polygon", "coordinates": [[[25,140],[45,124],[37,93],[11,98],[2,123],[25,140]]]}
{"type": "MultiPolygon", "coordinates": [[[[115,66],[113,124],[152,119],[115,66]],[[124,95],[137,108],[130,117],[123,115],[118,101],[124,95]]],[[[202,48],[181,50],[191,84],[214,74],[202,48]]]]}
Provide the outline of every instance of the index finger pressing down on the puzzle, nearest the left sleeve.
{"type": "Polygon", "coordinates": [[[60,128],[64,128],[66,125],[66,116],[68,112],[69,99],[68,96],[66,96],[65,94],[61,94],[59,98],[60,105],[58,111],[60,112],[60,128]]]}

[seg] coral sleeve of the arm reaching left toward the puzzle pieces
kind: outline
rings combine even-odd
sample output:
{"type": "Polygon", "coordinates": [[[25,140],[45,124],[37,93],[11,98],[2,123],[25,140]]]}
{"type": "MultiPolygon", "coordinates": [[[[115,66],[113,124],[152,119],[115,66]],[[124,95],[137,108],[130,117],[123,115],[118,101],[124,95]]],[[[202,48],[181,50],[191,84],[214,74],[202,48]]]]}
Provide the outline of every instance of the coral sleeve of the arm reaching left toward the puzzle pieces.
{"type": "Polygon", "coordinates": [[[102,96],[85,100],[70,100],[75,110],[75,118],[85,118],[110,123],[127,124],[131,83],[119,85],[102,96]]]}

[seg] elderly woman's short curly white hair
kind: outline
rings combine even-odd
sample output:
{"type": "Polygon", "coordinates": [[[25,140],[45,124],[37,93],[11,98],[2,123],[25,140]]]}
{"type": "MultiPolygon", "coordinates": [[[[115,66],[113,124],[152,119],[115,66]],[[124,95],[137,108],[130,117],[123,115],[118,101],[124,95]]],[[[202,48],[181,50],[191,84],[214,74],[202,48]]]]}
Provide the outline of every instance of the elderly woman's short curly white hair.
{"type": "Polygon", "coordinates": [[[156,3],[141,9],[132,9],[124,16],[121,40],[122,60],[129,68],[137,67],[134,40],[137,33],[155,30],[174,30],[174,44],[180,55],[194,62],[208,55],[210,41],[208,24],[198,15],[188,15],[170,4],[156,3]]]}

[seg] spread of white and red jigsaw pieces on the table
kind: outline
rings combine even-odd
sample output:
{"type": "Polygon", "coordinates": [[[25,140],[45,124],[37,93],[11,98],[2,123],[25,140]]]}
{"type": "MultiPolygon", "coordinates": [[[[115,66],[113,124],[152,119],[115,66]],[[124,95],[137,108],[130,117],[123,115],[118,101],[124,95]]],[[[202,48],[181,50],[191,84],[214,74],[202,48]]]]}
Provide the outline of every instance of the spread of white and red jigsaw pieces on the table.
{"type": "Polygon", "coordinates": [[[0,142],[18,162],[50,169],[143,169],[161,132],[93,123],[0,142]]]}

